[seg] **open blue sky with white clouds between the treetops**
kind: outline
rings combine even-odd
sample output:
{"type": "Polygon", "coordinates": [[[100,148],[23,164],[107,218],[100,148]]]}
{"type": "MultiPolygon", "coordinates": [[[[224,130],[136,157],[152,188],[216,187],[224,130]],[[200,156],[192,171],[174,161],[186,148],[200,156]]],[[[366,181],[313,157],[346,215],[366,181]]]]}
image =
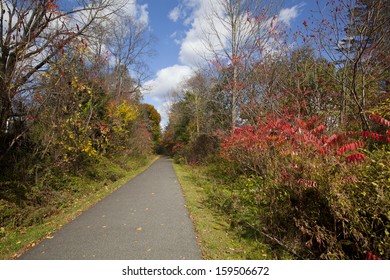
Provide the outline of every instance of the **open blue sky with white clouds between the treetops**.
{"type": "MultiPolygon", "coordinates": [[[[191,76],[202,63],[199,49],[201,25],[209,0],[137,0],[148,16],[149,31],[156,38],[156,55],[149,58],[150,79],[144,83],[144,102],[152,104],[162,116],[161,126],[168,122],[169,94],[191,76]]],[[[279,18],[287,25],[302,25],[314,8],[312,0],[286,0],[279,18]]]]}

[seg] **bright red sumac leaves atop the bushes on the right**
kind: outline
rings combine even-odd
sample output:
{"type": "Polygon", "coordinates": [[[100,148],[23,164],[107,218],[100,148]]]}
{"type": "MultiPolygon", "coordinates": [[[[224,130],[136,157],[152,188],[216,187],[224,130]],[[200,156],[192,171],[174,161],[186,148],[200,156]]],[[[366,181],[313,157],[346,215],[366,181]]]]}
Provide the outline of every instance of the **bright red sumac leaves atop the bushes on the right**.
{"type": "MultiPolygon", "coordinates": [[[[354,133],[327,136],[326,126],[314,126],[317,122],[317,119],[305,121],[269,115],[259,120],[256,126],[236,128],[229,137],[224,138],[221,144],[222,156],[237,161],[256,173],[262,173],[259,168],[267,168],[258,165],[261,163],[260,158],[270,152],[284,156],[322,156],[339,163],[356,162],[365,158],[362,153],[348,154],[365,145],[363,141],[356,140],[354,133]],[[251,166],[251,163],[255,166],[251,166]]],[[[371,132],[362,135],[369,135],[370,138],[373,136],[371,132]]]]}

